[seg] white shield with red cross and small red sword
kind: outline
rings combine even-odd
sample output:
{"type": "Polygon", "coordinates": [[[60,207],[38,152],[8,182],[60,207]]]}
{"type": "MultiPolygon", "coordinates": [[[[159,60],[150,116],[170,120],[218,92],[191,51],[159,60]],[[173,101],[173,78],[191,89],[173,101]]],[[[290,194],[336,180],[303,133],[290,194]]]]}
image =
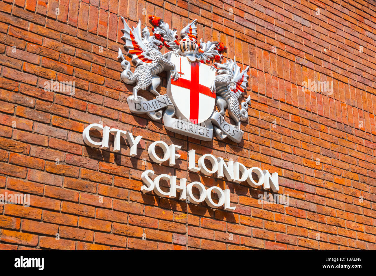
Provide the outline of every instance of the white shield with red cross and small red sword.
{"type": "Polygon", "coordinates": [[[210,86],[215,71],[201,62],[191,63],[186,57],[171,54],[170,61],[176,66],[179,78],[169,78],[167,95],[176,108],[176,116],[194,124],[205,122],[215,106],[215,92],[210,86]]]}

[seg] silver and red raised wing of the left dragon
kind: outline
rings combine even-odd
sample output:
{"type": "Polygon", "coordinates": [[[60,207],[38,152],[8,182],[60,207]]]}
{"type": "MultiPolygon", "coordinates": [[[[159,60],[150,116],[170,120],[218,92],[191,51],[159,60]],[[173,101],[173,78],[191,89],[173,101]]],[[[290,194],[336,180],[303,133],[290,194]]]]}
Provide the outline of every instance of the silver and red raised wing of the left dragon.
{"type": "MultiPolygon", "coordinates": [[[[136,66],[143,64],[143,63],[152,63],[152,58],[148,55],[149,50],[147,50],[146,45],[144,44],[143,35],[141,34],[141,20],[138,21],[137,27],[130,27],[126,23],[123,17],[124,29],[121,29],[123,32],[123,36],[121,37],[125,41],[124,48],[128,50],[128,55],[132,57],[132,62],[136,64],[136,66]]],[[[142,30],[144,36],[149,36],[149,30],[145,27],[142,30]]]]}

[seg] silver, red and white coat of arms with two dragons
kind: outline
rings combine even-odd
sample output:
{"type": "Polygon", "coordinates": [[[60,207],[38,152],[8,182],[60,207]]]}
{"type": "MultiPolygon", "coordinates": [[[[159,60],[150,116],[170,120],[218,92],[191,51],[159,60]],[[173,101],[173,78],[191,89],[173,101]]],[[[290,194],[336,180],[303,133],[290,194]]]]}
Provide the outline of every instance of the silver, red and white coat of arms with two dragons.
{"type": "Polygon", "coordinates": [[[121,80],[135,83],[132,96],[127,98],[131,112],[146,113],[153,120],[163,118],[165,128],[175,133],[205,141],[212,140],[215,133],[219,140],[228,137],[239,143],[243,138],[240,122],[248,119],[250,96],[241,104],[239,98],[247,89],[249,67],[242,71],[235,57],[207,65],[212,59],[222,60],[220,52],[226,47],[217,41],[198,41],[196,20],[182,29],[179,39],[177,30],[171,30],[161,18],[149,18],[155,26],[152,35],[147,27],[141,29],[140,21],[131,29],[121,18],[124,48],[136,66],[132,72],[119,48],[121,80]],[[162,54],[163,45],[170,51],[162,54]],[[168,72],[165,95],[156,90],[162,71],[168,72]],[[149,90],[156,97],[148,101],[138,95],[139,90],[149,90]],[[225,121],[226,108],[235,125],[225,121]]]}

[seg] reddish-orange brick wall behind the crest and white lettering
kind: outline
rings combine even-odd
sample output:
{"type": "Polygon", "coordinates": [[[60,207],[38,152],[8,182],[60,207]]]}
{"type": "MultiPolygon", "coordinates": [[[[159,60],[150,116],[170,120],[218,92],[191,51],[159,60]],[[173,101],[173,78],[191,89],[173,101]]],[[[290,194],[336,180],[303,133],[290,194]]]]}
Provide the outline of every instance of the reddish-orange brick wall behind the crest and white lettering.
{"type": "Polygon", "coordinates": [[[0,10],[0,192],[30,194],[28,208],[0,204],[0,249],[376,249],[375,1],[5,0],[0,10]],[[250,66],[243,142],[200,142],[129,112],[120,16],[152,27],[149,14],[179,31],[197,19],[199,38],[250,66]],[[45,91],[50,79],[75,81],[75,94],[45,91]],[[303,91],[308,80],[332,81],[333,94],[303,91]],[[84,146],[99,121],[142,135],[139,154],[124,140],[118,154],[84,146]],[[278,172],[290,206],[259,205],[263,190],[188,173],[184,160],[151,163],[159,139],[185,160],[195,148],[278,172]],[[228,187],[236,210],[143,194],[150,168],[228,187]]]}

